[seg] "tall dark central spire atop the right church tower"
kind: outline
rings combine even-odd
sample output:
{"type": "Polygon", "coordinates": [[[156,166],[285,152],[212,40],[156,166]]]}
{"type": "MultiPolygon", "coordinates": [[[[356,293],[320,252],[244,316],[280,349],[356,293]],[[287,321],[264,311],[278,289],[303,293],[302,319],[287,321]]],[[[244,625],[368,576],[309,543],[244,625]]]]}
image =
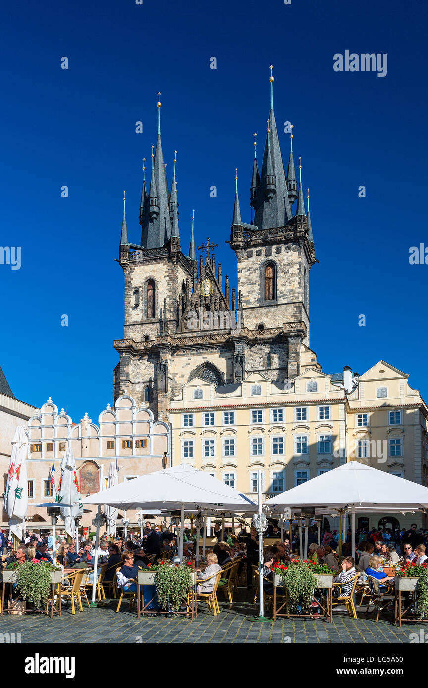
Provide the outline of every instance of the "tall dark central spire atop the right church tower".
{"type": "Polygon", "coordinates": [[[257,190],[257,197],[253,202],[255,208],[254,224],[259,229],[267,229],[271,227],[282,227],[292,217],[290,208],[290,201],[288,200],[288,188],[286,174],[283,169],[283,160],[281,155],[281,147],[279,146],[279,136],[277,129],[277,122],[275,120],[275,111],[273,109],[273,83],[275,77],[272,74],[273,67],[270,67],[270,116],[269,116],[269,130],[266,134],[266,142],[264,147],[264,157],[261,165],[260,184],[257,190]],[[270,168],[270,170],[268,169],[270,168]],[[272,174],[268,174],[270,171],[272,174]],[[275,189],[276,193],[272,192],[271,182],[266,188],[267,178],[275,175],[275,189]]]}

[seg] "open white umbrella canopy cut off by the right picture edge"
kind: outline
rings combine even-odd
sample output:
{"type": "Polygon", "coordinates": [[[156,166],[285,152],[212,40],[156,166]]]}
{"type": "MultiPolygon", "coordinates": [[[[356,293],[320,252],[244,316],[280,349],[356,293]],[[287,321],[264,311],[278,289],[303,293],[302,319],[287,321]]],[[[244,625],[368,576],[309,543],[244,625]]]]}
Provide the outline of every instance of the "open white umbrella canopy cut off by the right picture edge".
{"type": "Polygon", "coordinates": [[[418,510],[428,508],[428,488],[358,461],[350,461],[272,497],[265,506],[277,513],[286,507],[293,510],[302,506],[323,507],[325,512],[348,506],[418,510]]]}

